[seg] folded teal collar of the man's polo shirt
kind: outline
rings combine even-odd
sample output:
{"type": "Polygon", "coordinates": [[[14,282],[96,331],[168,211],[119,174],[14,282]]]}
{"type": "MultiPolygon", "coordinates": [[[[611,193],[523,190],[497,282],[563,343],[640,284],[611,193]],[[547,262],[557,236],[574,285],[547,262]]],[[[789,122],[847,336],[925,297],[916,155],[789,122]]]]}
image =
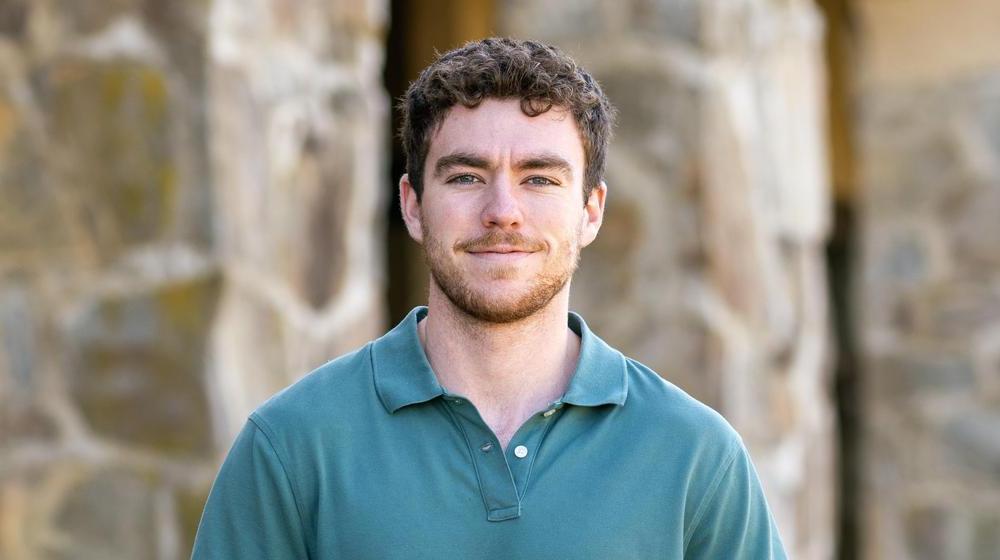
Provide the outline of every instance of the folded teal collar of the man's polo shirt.
{"type": "MultiPolygon", "coordinates": [[[[372,344],[375,390],[390,414],[445,394],[417,334],[417,323],[426,316],[427,307],[415,307],[372,344]]],[[[570,312],[568,324],[580,335],[580,359],[566,394],[558,402],[578,406],[625,404],[625,357],[591,332],[576,313],[570,312]]]]}

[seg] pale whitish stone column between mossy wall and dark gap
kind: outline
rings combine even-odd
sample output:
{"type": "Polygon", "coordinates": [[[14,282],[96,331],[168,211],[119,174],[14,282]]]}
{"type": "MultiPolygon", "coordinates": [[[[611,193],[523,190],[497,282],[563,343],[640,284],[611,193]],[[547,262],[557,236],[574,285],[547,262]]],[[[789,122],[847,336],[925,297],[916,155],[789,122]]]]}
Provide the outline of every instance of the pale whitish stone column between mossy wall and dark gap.
{"type": "Polygon", "coordinates": [[[220,441],[294,376],[383,328],[386,9],[375,0],[213,3],[220,441]]]}

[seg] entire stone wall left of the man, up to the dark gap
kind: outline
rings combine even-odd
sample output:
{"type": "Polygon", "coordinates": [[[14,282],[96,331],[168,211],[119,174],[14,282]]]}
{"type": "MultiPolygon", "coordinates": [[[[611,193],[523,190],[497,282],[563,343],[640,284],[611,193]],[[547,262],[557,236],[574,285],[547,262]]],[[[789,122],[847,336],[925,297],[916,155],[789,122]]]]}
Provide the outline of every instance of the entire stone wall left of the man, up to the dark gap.
{"type": "Polygon", "coordinates": [[[378,334],[385,10],[0,3],[0,558],[186,558],[248,410],[378,334]]]}

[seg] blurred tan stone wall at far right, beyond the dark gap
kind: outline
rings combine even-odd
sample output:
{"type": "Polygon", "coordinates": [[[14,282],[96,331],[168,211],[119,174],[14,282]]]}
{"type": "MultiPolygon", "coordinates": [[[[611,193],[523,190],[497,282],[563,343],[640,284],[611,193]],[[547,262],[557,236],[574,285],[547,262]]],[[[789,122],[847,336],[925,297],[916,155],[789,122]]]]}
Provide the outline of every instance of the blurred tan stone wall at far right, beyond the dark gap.
{"type": "Polygon", "coordinates": [[[865,558],[1000,551],[1000,5],[858,3],[865,558]]]}

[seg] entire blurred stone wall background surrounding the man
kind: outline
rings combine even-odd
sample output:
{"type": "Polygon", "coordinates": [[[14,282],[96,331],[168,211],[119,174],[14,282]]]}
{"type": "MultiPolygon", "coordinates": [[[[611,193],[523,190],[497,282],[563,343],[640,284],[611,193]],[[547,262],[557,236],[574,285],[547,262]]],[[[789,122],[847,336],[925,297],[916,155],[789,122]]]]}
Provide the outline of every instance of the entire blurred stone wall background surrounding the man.
{"type": "Polygon", "coordinates": [[[0,558],[188,556],[247,413],[423,302],[392,100],[491,34],[619,108],[572,306],[791,557],[1000,558],[995,0],[0,0],[0,558]]]}

